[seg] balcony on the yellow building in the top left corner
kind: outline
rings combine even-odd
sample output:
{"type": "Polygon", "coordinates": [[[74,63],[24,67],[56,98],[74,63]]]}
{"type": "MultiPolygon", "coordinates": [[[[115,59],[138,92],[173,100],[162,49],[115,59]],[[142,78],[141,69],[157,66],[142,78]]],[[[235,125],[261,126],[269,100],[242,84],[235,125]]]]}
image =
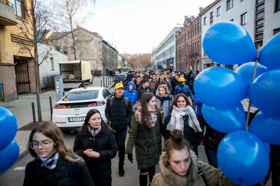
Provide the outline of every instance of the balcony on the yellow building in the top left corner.
{"type": "Polygon", "coordinates": [[[14,5],[7,0],[0,0],[0,25],[14,26],[18,23],[15,20],[14,5]]]}

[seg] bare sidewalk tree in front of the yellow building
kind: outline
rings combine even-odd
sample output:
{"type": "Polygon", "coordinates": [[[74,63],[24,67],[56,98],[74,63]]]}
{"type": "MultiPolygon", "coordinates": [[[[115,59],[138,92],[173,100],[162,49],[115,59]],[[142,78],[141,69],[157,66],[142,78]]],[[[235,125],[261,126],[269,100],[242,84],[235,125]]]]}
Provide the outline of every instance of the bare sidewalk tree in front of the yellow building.
{"type": "Polygon", "coordinates": [[[34,61],[35,68],[35,84],[36,84],[36,97],[37,97],[37,107],[38,107],[38,121],[42,121],[41,114],[41,102],[40,102],[40,92],[39,92],[39,71],[38,66],[42,64],[51,54],[51,48],[47,48],[42,54],[40,54],[42,61],[38,61],[38,51],[37,47],[41,44],[46,44],[43,39],[43,35],[46,33],[46,9],[41,4],[40,0],[29,0],[31,6],[28,7],[24,5],[25,19],[28,22],[22,21],[22,24],[17,25],[19,30],[19,35],[17,45],[19,45],[19,53],[27,53],[31,56],[34,61]]]}

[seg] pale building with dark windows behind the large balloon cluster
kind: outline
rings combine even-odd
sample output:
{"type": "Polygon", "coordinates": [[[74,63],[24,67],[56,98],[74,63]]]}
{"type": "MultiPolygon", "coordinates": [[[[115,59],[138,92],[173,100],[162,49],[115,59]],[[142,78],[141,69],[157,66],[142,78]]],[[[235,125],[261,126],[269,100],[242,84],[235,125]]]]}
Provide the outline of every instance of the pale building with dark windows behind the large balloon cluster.
{"type": "MultiPolygon", "coordinates": [[[[280,0],[217,0],[206,7],[201,16],[202,36],[205,30],[219,21],[234,21],[242,25],[255,46],[262,46],[280,31],[280,0]]],[[[203,41],[202,41],[203,45],[203,41]]],[[[201,46],[202,46],[201,45],[201,46]]],[[[201,49],[202,69],[223,66],[235,69],[238,65],[216,64],[201,49]]]]}

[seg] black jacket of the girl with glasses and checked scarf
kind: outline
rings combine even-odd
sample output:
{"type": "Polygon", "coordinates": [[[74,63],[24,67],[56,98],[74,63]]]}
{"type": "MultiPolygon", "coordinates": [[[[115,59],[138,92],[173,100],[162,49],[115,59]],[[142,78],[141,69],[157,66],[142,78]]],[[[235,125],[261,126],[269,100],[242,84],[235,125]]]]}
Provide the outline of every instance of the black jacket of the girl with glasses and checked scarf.
{"type": "MultiPolygon", "coordinates": [[[[26,165],[23,183],[24,186],[75,185],[75,182],[71,179],[67,169],[68,160],[60,157],[57,161],[56,167],[52,170],[47,169],[46,167],[41,167],[41,163],[41,160],[35,158],[26,165]]],[[[79,173],[79,185],[94,186],[85,163],[78,162],[76,165],[79,173]]]]}

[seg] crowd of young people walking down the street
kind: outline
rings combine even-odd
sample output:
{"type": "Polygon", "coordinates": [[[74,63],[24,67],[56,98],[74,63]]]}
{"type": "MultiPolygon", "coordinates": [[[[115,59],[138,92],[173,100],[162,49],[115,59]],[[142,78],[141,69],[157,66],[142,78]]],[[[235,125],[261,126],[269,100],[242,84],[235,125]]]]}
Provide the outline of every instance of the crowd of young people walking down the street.
{"type": "Polygon", "coordinates": [[[111,185],[111,159],[118,154],[124,176],[125,156],[133,163],[133,148],[140,186],[236,185],[218,169],[225,133],[203,119],[191,74],[192,68],[187,75],[175,71],[175,77],[171,71],[129,71],[106,103],[108,123],[99,111],[88,111],[73,151],[53,122],[37,124],[28,146],[35,159],[26,166],[24,185],[111,185]],[[198,161],[200,144],[210,165],[198,161]],[[157,164],[161,172],[155,174],[157,164]]]}

